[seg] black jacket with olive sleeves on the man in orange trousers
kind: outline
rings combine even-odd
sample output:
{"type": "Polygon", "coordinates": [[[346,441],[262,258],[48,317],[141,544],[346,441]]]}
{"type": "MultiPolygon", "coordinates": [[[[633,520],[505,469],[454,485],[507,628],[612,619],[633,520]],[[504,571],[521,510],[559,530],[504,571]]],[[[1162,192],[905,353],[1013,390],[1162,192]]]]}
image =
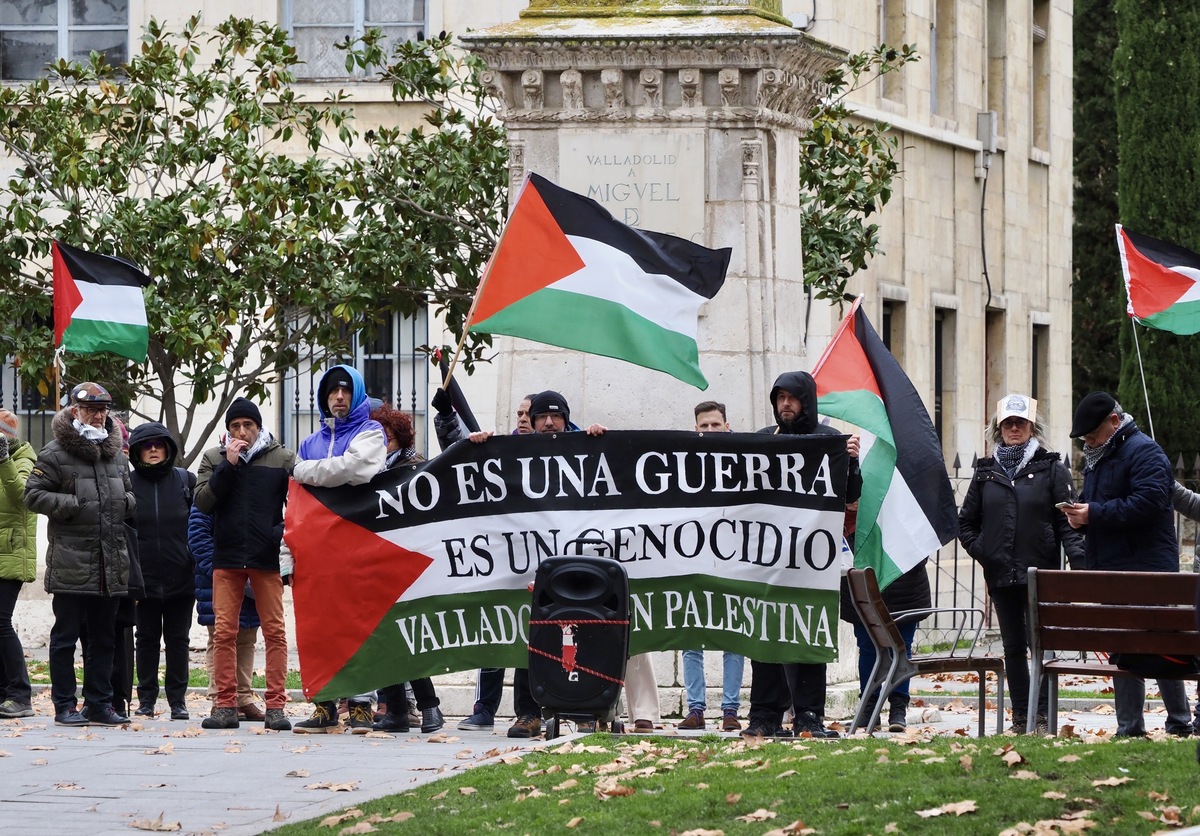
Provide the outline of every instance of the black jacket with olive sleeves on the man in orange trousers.
{"type": "Polygon", "coordinates": [[[296,455],[265,429],[250,462],[229,464],[224,445],[204,452],[196,505],[212,515],[214,569],[280,570],[283,505],[296,455]]]}

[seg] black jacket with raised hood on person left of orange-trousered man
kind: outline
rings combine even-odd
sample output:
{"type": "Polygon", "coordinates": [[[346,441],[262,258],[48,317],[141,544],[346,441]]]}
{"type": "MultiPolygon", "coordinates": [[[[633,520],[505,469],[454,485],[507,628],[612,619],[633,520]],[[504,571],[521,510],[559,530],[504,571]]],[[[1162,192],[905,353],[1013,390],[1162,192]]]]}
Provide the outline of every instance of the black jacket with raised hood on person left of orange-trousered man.
{"type": "Polygon", "coordinates": [[[157,421],[139,425],[130,433],[131,482],[138,500],[138,558],[148,599],[180,597],[194,589],[187,515],[196,476],[175,467],[178,456],[179,445],[170,431],[157,421]],[[167,457],[150,465],[142,462],[138,449],[152,439],[167,444],[167,457]]]}

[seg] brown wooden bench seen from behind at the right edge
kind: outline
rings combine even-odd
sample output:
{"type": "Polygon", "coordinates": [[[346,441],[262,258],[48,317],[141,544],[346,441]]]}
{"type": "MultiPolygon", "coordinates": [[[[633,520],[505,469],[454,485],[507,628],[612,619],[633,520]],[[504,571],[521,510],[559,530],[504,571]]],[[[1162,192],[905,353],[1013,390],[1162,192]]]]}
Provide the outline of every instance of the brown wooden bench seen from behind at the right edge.
{"type": "MultiPolygon", "coordinates": [[[[1114,652],[1200,656],[1195,595],[1200,576],[1190,572],[1091,572],[1031,569],[1030,705],[1037,705],[1042,678],[1050,678],[1050,733],[1058,729],[1058,676],[1133,676],[1087,654],[1114,652]],[[1050,652],[1074,657],[1045,658],[1050,652]]],[[[1186,679],[1196,679],[1187,676],[1186,679]]],[[[1036,712],[1028,716],[1032,732],[1036,712]]]]}

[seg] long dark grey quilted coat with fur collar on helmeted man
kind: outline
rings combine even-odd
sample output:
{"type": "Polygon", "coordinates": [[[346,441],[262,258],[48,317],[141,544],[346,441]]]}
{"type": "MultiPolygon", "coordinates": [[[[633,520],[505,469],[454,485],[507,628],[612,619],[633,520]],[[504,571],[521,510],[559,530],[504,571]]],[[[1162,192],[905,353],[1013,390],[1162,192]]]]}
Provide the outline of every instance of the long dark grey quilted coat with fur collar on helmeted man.
{"type": "Polygon", "coordinates": [[[48,517],[46,591],[119,596],[128,593],[125,521],[137,510],[121,431],[106,420],[108,438],[92,444],[74,428],[71,408],[50,422],[25,483],[25,505],[48,517]]]}

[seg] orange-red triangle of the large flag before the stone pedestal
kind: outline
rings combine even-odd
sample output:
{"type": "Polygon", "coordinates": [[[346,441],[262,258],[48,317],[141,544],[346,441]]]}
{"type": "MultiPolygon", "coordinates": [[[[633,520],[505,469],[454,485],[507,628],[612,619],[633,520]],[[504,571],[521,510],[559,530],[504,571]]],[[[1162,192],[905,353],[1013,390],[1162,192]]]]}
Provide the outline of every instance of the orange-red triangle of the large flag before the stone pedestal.
{"type": "Polygon", "coordinates": [[[527,182],[496,245],[470,327],[497,311],[578,272],[583,259],[563,234],[538,188],[527,182]]]}

